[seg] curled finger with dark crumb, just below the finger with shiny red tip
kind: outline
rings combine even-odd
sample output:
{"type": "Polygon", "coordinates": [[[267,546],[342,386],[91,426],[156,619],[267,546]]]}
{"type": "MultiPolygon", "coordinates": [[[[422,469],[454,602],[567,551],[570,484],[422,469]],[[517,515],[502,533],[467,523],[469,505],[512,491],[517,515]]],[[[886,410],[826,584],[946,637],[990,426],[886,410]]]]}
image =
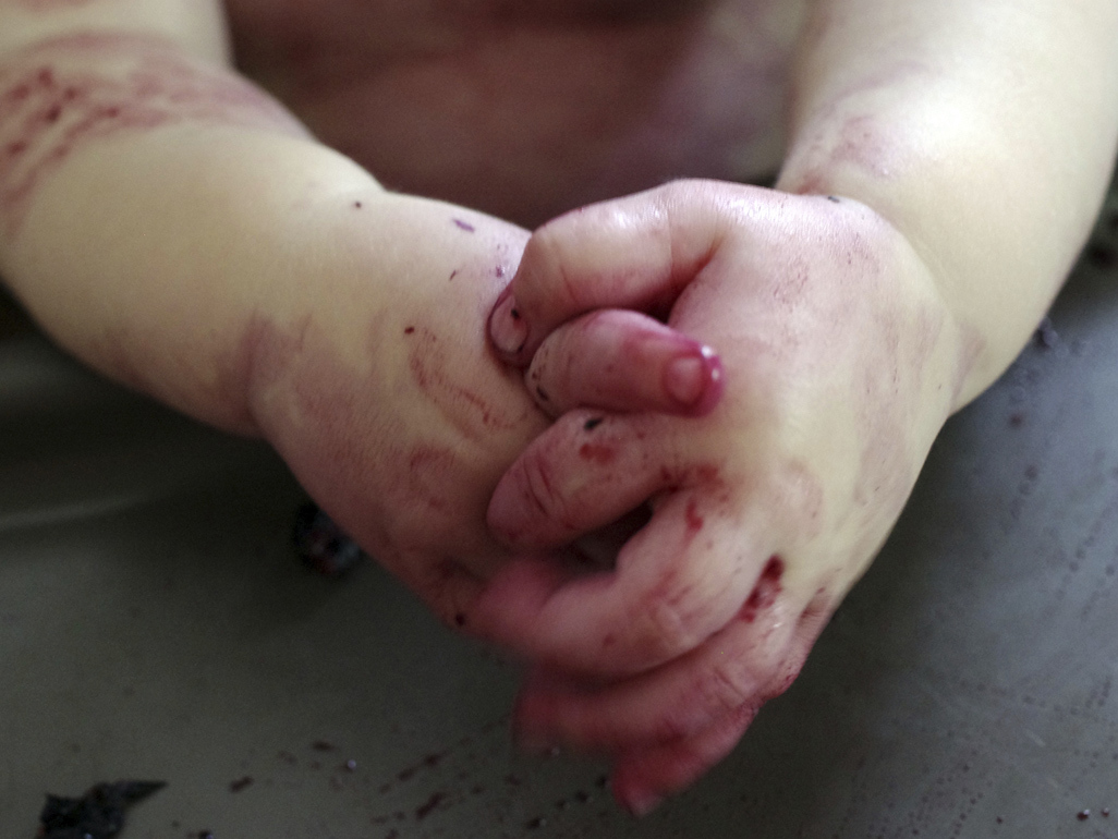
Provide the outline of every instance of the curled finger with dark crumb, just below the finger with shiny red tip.
{"type": "Polygon", "coordinates": [[[490,500],[490,529],[525,550],[563,545],[620,518],[680,480],[655,416],[565,414],[525,449],[490,500]]]}

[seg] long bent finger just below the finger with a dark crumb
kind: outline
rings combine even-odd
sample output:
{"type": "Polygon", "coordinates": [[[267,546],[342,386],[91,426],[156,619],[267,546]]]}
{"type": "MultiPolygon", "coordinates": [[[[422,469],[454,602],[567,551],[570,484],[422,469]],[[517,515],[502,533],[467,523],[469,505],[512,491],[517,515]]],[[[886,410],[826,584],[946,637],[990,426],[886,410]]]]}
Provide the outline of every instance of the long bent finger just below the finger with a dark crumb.
{"type": "Polygon", "coordinates": [[[690,652],[741,609],[770,554],[754,538],[762,529],[720,503],[671,494],[608,574],[557,583],[514,560],[479,597],[482,634],[543,666],[608,677],[690,652]]]}

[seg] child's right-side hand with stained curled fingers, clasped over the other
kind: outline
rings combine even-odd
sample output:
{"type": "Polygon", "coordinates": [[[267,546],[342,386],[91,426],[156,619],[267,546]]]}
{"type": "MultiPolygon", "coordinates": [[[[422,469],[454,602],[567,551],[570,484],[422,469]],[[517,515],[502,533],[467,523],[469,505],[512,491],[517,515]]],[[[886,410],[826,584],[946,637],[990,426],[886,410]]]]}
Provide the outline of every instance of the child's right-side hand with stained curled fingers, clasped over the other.
{"type": "Polygon", "coordinates": [[[609,755],[615,794],[644,811],[799,671],[948,415],[959,330],[866,207],[697,181],[544,226],[490,329],[531,364],[541,406],[567,412],[502,479],[493,530],[525,555],[646,500],[653,512],[612,573],[525,556],[472,620],[537,666],[523,741],[609,755]],[[617,413],[707,411],[722,383],[702,345],[724,367],[708,415],[617,413]]]}

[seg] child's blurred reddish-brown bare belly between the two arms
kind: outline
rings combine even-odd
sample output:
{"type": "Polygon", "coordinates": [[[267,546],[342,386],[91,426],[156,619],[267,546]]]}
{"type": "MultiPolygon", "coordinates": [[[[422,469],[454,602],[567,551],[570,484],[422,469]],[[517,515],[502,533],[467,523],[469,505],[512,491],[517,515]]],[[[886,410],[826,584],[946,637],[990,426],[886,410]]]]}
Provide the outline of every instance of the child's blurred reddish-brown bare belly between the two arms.
{"type": "Polygon", "coordinates": [[[228,0],[241,68],[385,186],[533,225],[783,152],[803,0],[228,0]]]}

